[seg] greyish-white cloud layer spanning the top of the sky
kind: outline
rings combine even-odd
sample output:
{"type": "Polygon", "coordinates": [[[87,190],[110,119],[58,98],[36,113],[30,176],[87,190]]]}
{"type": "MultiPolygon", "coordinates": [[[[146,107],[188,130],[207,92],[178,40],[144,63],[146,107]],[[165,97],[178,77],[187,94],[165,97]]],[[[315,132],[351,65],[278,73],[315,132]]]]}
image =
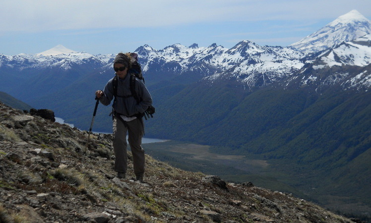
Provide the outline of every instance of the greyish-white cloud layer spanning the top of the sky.
{"type": "Polygon", "coordinates": [[[198,22],[330,20],[369,0],[2,0],[1,32],[159,27],[198,22]],[[334,6],[336,5],[336,7],[334,6]]]}

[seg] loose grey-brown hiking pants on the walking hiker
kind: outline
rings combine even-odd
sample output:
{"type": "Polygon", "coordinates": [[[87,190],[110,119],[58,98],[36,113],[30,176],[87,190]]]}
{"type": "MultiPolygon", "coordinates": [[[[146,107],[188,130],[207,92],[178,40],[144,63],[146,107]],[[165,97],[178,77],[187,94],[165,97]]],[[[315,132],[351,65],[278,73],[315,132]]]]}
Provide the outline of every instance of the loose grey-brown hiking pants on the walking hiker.
{"type": "Polygon", "coordinates": [[[144,174],[144,150],[141,147],[144,126],[142,120],[135,118],[132,121],[124,122],[116,116],[113,119],[115,171],[126,172],[127,170],[127,143],[126,132],[131,154],[133,156],[134,174],[136,176],[144,174]]]}

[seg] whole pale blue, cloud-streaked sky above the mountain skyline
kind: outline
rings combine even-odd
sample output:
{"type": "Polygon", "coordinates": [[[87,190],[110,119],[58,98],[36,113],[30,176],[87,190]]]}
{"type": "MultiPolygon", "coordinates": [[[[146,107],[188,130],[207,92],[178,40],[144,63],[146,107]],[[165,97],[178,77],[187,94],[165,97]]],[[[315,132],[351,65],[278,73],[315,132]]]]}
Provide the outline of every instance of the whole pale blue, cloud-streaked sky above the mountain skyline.
{"type": "Polygon", "coordinates": [[[93,55],[181,44],[288,46],[370,0],[1,0],[0,54],[93,55]]]}

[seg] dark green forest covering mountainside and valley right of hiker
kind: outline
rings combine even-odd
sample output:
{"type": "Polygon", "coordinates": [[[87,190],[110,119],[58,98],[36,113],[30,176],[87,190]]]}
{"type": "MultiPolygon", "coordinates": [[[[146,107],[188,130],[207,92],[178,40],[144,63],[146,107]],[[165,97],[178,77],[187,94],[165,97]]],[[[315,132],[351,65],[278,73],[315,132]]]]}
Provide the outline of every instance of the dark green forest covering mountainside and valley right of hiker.
{"type": "Polygon", "coordinates": [[[210,145],[214,154],[265,160],[269,169],[216,167],[158,148],[155,158],[231,181],[262,175],[265,182],[255,177],[255,184],[305,193],[321,205],[344,204],[343,197],[354,207],[357,201],[371,204],[371,92],[265,87],[241,93],[227,84],[195,85],[157,107],[156,117],[146,121],[146,137],[210,145]]]}

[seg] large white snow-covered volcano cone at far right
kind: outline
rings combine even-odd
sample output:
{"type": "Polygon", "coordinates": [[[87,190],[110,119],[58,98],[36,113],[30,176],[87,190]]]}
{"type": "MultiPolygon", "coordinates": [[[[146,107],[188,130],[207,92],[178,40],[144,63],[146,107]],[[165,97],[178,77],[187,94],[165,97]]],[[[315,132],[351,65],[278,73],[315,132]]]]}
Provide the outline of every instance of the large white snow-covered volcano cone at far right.
{"type": "Polygon", "coordinates": [[[316,53],[366,34],[371,34],[371,21],[357,10],[352,10],[290,47],[307,54],[316,53]]]}

